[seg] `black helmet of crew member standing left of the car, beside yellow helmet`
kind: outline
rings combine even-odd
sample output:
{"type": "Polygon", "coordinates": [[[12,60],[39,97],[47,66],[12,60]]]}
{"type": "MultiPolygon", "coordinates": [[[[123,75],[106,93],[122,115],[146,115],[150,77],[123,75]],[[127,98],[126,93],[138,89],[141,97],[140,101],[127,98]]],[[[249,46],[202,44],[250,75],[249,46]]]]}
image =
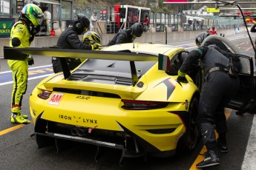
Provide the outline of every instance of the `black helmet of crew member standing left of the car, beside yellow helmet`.
{"type": "Polygon", "coordinates": [[[82,13],[76,14],[75,18],[73,19],[73,27],[76,30],[76,33],[81,34],[85,31],[85,28],[89,28],[90,21],[87,16],[82,13]]]}

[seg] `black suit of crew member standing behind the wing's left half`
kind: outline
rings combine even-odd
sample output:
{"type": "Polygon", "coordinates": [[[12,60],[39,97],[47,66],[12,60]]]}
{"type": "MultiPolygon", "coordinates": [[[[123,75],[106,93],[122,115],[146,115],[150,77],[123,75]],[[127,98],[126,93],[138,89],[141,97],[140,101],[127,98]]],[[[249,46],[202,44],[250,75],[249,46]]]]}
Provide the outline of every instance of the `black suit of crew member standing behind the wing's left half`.
{"type": "MultiPolygon", "coordinates": [[[[78,49],[78,50],[92,50],[91,44],[85,44],[80,41],[78,34],[75,32],[73,27],[68,27],[61,35],[59,35],[59,39],[57,41],[57,46],[62,49],[78,49]]],[[[81,61],[79,58],[66,58],[69,69],[74,69],[81,61]]],[[[62,65],[60,63],[60,59],[57,57],[52,58],[53,63],[53,71],[62,72],[62,65]]]]}

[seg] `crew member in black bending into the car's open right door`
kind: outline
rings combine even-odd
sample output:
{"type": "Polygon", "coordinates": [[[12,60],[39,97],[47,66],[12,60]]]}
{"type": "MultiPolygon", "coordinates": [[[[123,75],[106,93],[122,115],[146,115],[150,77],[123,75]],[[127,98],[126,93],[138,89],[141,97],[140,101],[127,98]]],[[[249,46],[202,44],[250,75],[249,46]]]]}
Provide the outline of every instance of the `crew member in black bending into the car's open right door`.
{"type": "MultiPolygon", "coordinates": [[[[214,46],[216,47],[216,46],[214,46]]],[[[214,47],[198,47],[189,52],[178,72],[178,82],[188,83],[186,72],[198,59],[206,72],[205,83],[200,96],[197,126],[203,136],[207,152],[197,168],[220,165],[218,150],[227,152],[226,116],[224,108],[239,88],[237,73],[240,71],[238,58],[227,58],[214,47]],[[214,124],[219,135],[216,140],[214,124]]]]}

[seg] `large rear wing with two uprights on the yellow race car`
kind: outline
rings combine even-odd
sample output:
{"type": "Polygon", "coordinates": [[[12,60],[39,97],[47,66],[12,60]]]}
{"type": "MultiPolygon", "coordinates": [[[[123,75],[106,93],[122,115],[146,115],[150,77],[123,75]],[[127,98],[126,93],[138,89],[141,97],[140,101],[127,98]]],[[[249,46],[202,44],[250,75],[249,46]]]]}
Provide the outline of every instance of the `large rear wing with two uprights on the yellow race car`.
{"type": "Polygon", "coordinates": [[[68,68],[65,58],[92,58],[105,60],[130,61],[131,74],[133,83],[138,81],[137,70],[134,61],[158,61],[158,69],[169,71],[170,59],[163,54],[145,54],[134,52],[120,52],[120,51],[100,51],[100,50],[73,50],[73,49],[59,49],[58,47],[27,47],[27,48],[13,48],[4,47],[4,59],[24,61],[27,55],[45,55],[48,57],[59,57],[64,78],[70,77],[70,69],[68,68]]]}

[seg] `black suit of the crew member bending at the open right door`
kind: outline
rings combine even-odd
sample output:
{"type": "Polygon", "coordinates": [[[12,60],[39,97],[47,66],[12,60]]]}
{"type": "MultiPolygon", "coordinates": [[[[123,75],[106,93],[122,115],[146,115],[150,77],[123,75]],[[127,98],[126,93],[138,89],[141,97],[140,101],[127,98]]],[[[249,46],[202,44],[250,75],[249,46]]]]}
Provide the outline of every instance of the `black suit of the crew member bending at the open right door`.
{"type": "MultiPolygon", "coordinates": [[[[229,76],[226,71],[229,58],[214,48],[206,46],[189,52],[180,71],[188,72],[191,65],[198,59],[201,60],[206,77],[199,101],[197,126],[203,135],[203,143],[206,148],[208,150],[216,149],[214,124],[219,138],[226,141],[227,126],[224,108],[232,96],[236,94],[239,88],[239,80],[237,77],[229,76]],[[217,71],[212,68],[219,68],[220,70],[217,71]]],[[[238,66],[239,64],[237,64],[238,66]]],[[[237,68],[237,70],[239,69],[237,68]]]]}

